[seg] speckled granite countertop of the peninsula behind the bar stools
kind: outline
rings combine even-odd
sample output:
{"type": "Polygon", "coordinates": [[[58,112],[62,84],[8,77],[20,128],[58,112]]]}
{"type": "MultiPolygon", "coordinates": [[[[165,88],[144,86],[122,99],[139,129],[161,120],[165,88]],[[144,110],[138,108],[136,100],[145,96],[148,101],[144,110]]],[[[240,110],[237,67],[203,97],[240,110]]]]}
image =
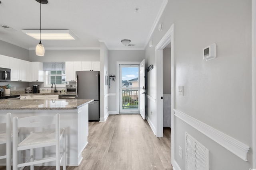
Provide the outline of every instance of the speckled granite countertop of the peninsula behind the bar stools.
{"type": "Polygon", "coordinates": [[[78,109],[92,99],[66,100],[0,100],[0,110],[61,110],[78,109]]]}

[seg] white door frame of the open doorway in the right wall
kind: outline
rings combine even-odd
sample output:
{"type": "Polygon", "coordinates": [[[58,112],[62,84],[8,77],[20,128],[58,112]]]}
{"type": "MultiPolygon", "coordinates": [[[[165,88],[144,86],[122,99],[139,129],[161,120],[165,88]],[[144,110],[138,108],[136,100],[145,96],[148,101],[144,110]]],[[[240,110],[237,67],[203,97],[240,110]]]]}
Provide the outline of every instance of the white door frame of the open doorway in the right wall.
{"type": "Polygon", "coordinates": [[[174,162],[174,107],[175,107],[175,57],[174,57],[174,24],[156,45],[156,137],[163,137],[163,49],[171,43],[171,158],[174,162]]]}

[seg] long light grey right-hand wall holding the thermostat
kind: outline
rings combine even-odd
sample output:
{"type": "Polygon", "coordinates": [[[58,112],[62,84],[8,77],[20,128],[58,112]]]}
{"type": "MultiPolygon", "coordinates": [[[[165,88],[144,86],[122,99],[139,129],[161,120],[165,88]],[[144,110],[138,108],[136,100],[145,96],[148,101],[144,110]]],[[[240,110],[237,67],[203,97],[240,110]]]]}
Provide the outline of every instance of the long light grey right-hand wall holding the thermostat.
{"type": "MultiPolygon", "coordinates": [[[[184,86],[184,96],[175,88],[174,109],[248,145],[248,161],[223,148],[178,117],[175,117],[174,159],[185,169],[185,131],[210,150],[210,169],[252,167],[252,80],[251,80],[251,0],[168,1],[151,37],[158,44],[174,23],[176,87],[184,86]],[[202,59],[202,49],[217,44],[217,58],[202,59]],[[178,156],[178,147],[183,157],[178,156]],[[220,168],[221,167],[221,168],[220,168]]],[[[155,51],[147,47],[146,63],[155,64],[155,51]]],[[[154,69],[153,69],[154,70],[154,69]]],[[[148,72],[147,94],[155,98],[156,78],[148,72]]],[[[152,99],[151,98],[151,99],[152,99]]],[[[148,99],[148,121],[156,126],[156,113],[148,99]],[[151,115],[150,111],[153,109],[151,115]]],[[[173,162],[174,163],[174,162],[173,162]]]]}

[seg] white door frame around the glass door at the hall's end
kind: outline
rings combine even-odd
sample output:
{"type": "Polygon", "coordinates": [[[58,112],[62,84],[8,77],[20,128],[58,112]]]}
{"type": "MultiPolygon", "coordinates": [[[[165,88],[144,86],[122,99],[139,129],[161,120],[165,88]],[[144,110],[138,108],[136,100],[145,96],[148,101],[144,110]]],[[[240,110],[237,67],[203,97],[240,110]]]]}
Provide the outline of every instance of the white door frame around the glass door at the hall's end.
{"type": "Polygon", "coordinates": [[[116,62],[116,114],[120,114],[119,106],[119,64],[140,64],[141,61],[117,61],[116,62]]]}

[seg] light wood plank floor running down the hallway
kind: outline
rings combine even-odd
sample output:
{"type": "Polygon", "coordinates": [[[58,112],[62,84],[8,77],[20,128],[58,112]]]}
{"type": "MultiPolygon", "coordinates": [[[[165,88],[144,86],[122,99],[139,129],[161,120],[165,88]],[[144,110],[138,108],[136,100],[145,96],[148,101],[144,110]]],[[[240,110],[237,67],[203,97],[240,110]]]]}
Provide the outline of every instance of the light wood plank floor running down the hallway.
{"type": "MultiPolygon", "coordinates": [[[[164,128],[164,137],[157,138],[138,114],[109,115],[104,123],[89,122],[88,141],[80,166],[67,166],[67,170],[172,170],[170,128],[164,128]]],[[[55,167],[35,166],[35,170],[49,169],[55,167]]]]}

